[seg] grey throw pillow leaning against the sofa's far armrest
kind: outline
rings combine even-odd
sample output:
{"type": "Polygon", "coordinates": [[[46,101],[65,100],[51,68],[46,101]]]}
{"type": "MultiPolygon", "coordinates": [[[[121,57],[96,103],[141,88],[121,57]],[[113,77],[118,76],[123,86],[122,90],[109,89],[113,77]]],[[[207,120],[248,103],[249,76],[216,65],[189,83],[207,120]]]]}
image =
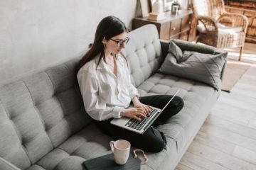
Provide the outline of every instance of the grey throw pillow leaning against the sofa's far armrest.
{"type": "Polygon", "coordinates": [[[217,55],[203,54],[193,51],[183,51],[170,42],[169,53],[159,72],[177,77],[201,81],[213,86],[217,91],[221,86],[220,72],[223,69],[228,53],[217,55]]]}

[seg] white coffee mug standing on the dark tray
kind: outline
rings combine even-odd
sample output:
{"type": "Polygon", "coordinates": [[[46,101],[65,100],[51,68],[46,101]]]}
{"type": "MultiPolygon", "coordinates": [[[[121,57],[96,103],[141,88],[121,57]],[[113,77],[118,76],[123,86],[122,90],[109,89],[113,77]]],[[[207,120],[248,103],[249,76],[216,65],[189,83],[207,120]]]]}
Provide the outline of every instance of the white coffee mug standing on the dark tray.
{"type": "Polygon", "coordinates": [[[114,152],[114,162],[125,164],[129,158],[131,144],[127,140],[110,141],[110,148],[114,152]]]}

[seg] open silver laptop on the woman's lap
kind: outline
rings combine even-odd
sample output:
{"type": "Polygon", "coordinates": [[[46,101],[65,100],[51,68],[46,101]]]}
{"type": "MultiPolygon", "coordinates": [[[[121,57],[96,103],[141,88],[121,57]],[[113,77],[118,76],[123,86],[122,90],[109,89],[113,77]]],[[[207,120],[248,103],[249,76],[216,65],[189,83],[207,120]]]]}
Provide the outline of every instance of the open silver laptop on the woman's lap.
{"type": "Polygon", "coordinates": [[[159,115],[164,111],[164,109],[169,105],[169,103],[174,99],[174,97],[178,94],[179,89],[176,91],[174,96],[166,103],[164,108],[154,108],[152,107],[151,113],[146,116],[146,118],[142,116],[138,116],[141,120],[136,120],[134,118],[114,118],[111,120],[112,125],[117,125],[121,128],[131,130],[133,132],[137,132],[139,134],[143,134],[151,125],[154,123],[154,120],[159,117],[159,115]]]}

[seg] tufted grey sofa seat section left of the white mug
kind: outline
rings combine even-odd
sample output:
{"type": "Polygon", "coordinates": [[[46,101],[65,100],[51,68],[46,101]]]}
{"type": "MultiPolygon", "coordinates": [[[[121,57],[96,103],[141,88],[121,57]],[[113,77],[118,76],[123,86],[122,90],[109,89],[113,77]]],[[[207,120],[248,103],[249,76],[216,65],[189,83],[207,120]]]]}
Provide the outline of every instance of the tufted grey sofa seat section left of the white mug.
{"type": "Polygon", "coordinates": [[[110,154],[110,140],[91,123],[46,154],[29,170],[38,167],[47,170],[83,169],[82,162],[85,160],[110,154]]]}

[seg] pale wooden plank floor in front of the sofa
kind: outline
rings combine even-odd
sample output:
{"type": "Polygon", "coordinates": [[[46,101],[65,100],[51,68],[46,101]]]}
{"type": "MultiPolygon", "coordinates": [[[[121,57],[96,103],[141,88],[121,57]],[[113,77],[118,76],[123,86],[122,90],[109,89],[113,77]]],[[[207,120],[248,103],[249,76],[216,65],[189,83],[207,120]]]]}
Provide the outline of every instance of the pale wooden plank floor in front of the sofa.
{"type": "MultiPolygon", "coordinates": [[[[222,91],[176,170],[256,169],[256,44],[246,44],[250,64],[230,93],[222,91]]],[[[229,60],[238,59],[231,51],[229,60]]]]}

